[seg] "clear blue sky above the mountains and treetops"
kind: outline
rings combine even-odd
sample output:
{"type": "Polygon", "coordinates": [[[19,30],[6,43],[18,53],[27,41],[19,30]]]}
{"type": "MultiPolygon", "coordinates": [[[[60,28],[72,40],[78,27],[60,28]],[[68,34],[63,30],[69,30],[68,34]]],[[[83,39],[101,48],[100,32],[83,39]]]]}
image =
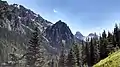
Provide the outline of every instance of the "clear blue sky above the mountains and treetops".
{"type": "Polygon", "coordinates": [[[73,34],[112,31],[120,22],[120,0],[6,0],[21,4],[55,23],[65,21],[73,34]]]}

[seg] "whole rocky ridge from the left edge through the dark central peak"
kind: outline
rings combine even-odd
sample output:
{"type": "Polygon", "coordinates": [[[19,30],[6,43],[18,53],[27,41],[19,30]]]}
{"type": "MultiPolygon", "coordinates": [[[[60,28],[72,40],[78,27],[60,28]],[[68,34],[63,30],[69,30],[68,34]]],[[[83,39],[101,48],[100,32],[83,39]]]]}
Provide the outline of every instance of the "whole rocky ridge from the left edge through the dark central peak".
{"type": "Polygon", "coordinates": [[[64,22],[53,24],[22,5],[9,5],[0,0],[0,63],[8,61],[10,53],[19,56],[25,53],[34,27],[43,34],[42,46],[47,54],[58,53],[62,40],[65,40],[66,47],[74,41],[71,30],[64,22]]]}

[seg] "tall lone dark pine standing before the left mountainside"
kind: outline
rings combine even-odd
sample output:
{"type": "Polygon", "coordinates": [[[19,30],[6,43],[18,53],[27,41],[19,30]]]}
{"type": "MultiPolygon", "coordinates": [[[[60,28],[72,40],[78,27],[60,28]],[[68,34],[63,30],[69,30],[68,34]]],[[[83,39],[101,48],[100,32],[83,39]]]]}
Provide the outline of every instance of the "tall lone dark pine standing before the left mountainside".
{"type": "Polygon", "coordinates": [[[35,28],[35,31],[33,32],[33,36],[29,42],[29,47],[27,48],[27,65],[29,67],[36,67],[35,63],[39,56],[39,35],[38,35],[38,28],[35,28]]]}

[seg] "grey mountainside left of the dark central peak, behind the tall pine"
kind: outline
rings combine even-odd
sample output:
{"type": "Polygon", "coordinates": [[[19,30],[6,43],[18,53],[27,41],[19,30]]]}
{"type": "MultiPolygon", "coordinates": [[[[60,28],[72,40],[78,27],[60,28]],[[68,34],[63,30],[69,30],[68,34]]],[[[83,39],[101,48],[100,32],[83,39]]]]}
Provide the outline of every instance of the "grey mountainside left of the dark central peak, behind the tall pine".
{"type": "MultiPolygon", "coordinates": [[[[51,25],[51,22],[22,5],[9,5],[6,1],[0,0],[0,65],[4,62],[8,63],[10,54],[14,53],[17,57],[25,54],[34,27],[38,27],[39,32],[43,33],[51,25]]],[[[46,53],[44,55],[46,57],[54,50],[48,40],[44,36],[42,37],[44,42],[41,50],[46,53]]],[[[46,59],[48,58],[46,57],[46,59]]],[[[24,59],[20,62],[24,63],[24,59]]]]}

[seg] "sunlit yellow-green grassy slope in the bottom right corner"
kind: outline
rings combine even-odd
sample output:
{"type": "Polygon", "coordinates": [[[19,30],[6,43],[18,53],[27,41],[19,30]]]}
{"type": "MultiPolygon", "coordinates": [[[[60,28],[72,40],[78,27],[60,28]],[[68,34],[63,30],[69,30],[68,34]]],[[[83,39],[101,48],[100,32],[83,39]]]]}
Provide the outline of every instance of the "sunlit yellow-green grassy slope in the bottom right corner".
{"type": "Polygon", "coordinates": [[[101,60],[93,67],[120,67],[120,50],[101,60]]]}

